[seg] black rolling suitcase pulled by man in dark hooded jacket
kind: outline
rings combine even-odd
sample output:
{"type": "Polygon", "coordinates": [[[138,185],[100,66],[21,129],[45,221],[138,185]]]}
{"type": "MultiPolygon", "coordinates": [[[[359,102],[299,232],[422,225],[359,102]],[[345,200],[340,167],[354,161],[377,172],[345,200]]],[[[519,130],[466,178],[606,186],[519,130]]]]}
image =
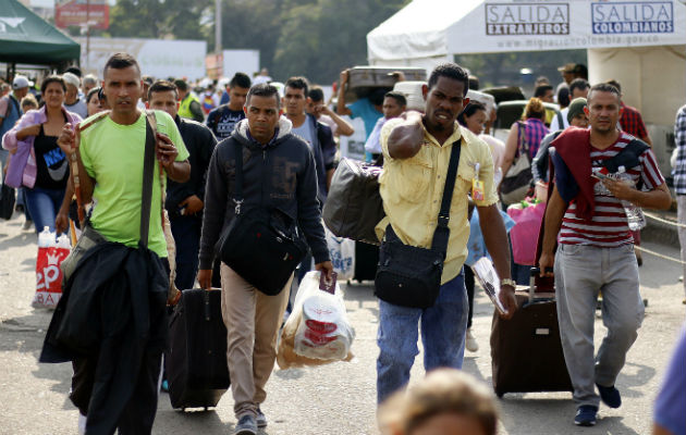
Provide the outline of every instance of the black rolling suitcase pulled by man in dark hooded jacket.
{"type": "Polygon", "coordinates": [[[164,355],[175,409],[216,407],[230,385],[221,291],[184,290],[169,322],[164,355]]]}

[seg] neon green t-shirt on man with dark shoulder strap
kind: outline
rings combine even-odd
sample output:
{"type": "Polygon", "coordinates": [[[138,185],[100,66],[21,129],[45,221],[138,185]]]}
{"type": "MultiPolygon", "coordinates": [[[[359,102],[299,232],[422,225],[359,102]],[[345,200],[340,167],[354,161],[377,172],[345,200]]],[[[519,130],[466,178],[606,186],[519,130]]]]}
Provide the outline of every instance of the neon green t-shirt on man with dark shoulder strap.
{"type": "MultiPolygon", "coordinates": [[[[155,111],[157,129],[170,137],[179,156],[188,158],[174,120],[162,111],[155,111]]],[[[84,121],[84,124],[90,120],[84,121]]],[[[135,248],[140,238],[140,197],[143,190],[143,159],[145,154],[145,113],[132,125],[120,125],[106,116],[81,134],[81,160],[95,182],[93,191],[93,227],[110,241],[135,248]]],[[[159,162],[152,171],[152,204],[148,248],[167,257],[167,241],[161,223],[161,188],[159,162]]]]}

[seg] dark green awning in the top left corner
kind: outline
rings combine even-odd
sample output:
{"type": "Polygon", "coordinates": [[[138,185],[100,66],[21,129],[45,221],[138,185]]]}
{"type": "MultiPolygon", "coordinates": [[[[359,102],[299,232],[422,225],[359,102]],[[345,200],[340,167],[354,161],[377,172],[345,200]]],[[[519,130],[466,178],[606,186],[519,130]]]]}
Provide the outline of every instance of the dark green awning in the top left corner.
{"type": "Polygon", "coordinates": [[[79,54],[77,42],[17,0],[0,0],[0,62],[51,65],[79,54]]]}

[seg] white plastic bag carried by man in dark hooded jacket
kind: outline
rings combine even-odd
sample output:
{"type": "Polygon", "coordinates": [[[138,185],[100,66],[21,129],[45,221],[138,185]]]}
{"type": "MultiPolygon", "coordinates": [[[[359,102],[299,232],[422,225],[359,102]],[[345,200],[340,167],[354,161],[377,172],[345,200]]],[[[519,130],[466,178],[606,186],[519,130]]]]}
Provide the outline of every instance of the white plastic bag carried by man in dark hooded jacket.
{"type": "Polygon", "coordinates": [[[345,313],[341,288],[319,289],[320,272],[308,272],[301,282],[293,312],[281,332],[277,362],[281,369],[320,365],[353,359],[355,332],[345,313]]]}

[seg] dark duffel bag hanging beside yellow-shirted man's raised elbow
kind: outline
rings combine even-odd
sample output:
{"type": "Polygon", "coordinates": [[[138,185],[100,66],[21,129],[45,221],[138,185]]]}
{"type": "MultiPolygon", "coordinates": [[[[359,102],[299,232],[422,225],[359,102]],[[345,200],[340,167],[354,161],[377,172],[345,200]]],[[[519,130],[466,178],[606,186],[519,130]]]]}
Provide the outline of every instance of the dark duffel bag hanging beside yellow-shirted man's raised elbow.
{"type": "Polygon", "coordinates": [[[324,224],[336,237],[379,245],[375,227],[385,213],[379,194],[382,167],[343,158],[323,206],[324,224]]]}

